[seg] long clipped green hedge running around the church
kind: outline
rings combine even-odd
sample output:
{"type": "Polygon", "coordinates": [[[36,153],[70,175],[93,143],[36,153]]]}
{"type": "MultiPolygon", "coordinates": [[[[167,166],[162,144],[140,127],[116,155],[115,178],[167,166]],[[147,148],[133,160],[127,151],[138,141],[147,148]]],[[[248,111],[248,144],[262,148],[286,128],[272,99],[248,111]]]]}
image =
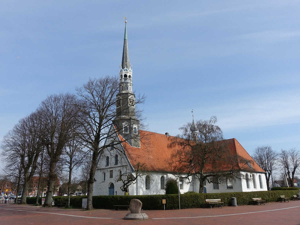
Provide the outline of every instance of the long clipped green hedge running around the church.
{"type": "MultiPolygon", "coordinates": [[[[205,199],[221,199],[224,205],[231,206],[231,198],[235,197],[238,205],[253,204],[252,198],[262,198],[266,202],[280,201],[280,195],[292,198],[298,194],[299,190],[277,190],[277,191],[251,191],[251,192],[231,192],[231,193],[185,193],[180,194],[180,208],[202,208],[207,207],[205,199]]],[[[81,208],[82,199],[87,196],[71,196],[70,205],[81,208]]],[[[55,205],[67,200],[67,196],[54,196],[52,199],[55,205]]],[[[166,199],[166,209],[178,209],[178,194],[170,195],[109,195],[93,196],[94,208],[113,209],[113,205],[129,205],[131,199],[140,199],[144,210],[163,210],[162,199],[166,199]]],[[[35,203],[35,197],[27,198],[28,204],[35,203]],[[34,200],[33,200],[34,199],[34,200]],[[32,203],[29,203],[32,202],[32,203]]],[[[41,204],[41,199],[39,199],[41,204]]]]}

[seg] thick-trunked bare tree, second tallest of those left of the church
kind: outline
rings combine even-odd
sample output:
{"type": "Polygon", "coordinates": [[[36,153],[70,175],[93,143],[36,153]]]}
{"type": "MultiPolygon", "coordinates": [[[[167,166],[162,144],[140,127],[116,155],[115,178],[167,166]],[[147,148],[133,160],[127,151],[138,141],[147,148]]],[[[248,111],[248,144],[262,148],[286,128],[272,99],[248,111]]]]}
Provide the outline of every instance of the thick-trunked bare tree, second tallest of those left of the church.
{"type": "Polygon", "coordinates": [[[57,184],[57,162],[68,141],[74,136],[76,97],[73,94],[49,95],[41,102],[38,112],[44,132],[41,139],[49,157],[48,189],[43,207],[51,207],[52,193],[57,184]]]}

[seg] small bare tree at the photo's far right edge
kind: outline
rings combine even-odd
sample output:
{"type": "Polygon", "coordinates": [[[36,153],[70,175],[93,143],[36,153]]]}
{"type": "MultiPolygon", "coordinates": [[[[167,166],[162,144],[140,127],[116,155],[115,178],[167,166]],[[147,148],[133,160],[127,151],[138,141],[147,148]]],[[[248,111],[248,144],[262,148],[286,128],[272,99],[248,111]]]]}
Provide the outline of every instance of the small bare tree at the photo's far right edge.
{"type": "Polygon", "coordinates": [[[295,172],[300,166],[300,151],[296,148],[281,149],[278,161],[285,172],[291,187],[294,187],[295,172]]]}

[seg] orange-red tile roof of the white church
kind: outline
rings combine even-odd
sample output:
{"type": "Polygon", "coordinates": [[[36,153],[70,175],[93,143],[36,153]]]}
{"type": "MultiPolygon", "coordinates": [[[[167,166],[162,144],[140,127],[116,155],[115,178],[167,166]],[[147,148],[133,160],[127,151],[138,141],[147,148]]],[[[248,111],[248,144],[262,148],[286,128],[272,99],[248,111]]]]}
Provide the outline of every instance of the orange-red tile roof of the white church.
{"type": "MultiPolygon", "coordinates": [[[[131,165],[134,166],[137,162],[146,163],[149,171],[170,172],[168,162],[174,151],[179,149],[179,146],[170,147],[174,137],[142,130],[140,136],[143,137],[141,138],[140,148],[132,147],[126,141],[123,142],[123,147],[131,165]]],[[[119,138],[123,139],[121,135],[119,135],[119,138]]],[[[238,155],[249,160],[254,171],[265,172],[235,138],[227,141],[231,155],[238,155]]],[[[211,169],[209,165],[205,165],[205,167],[207,168],[206,171],[211,169]]],[[[227,162],[220,162],[219,169],[228,170],[229,167],[230,165],[227,162]]],[[[235,169],[245,169],[245,165],[240,163],[235,169]]],[[[249,169],[248,166],[246,169],[249,169]]]]}

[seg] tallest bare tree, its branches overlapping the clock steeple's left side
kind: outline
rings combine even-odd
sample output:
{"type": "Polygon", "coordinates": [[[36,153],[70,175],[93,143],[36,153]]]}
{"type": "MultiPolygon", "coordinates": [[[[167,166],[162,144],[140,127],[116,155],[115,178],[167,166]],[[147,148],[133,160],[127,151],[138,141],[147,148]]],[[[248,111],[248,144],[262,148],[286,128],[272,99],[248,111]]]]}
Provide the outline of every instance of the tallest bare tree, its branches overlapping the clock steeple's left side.
{"type": "MultiPolygon", "coordinates": [[[[99,154],[104,149],[119,146],[125,140],[117,140],[116,130],[113,121],[116,117],[116,94],[119,91],[119,78],[102,77],[99,79],[89,79],[82,87],[77,88],[77,95],[80,98],[80,123],[84,127],[81,134],[82,141],[86,147],[91,149],[91,168],[88,178],[88,201],[87,209],[93,209],[92,195],[95,172],[99,154]],[[107,138],[114,138],[115,141],[104,144],[107,138]]],[[[141,103],[144,96],[136,99],[135,104],[141,103]]],[[[130,106],[128,106],[130,107],[130,106]]],[[[124,109],[126,110],[126,109],[124,109]]],[[[138,115],[136,111],[136,116],[138,115]]],[[[135,138],[135,137],[131,137],[135,138]]],[[[139,138],[139,137],[138,137],[139,138]]]]}

